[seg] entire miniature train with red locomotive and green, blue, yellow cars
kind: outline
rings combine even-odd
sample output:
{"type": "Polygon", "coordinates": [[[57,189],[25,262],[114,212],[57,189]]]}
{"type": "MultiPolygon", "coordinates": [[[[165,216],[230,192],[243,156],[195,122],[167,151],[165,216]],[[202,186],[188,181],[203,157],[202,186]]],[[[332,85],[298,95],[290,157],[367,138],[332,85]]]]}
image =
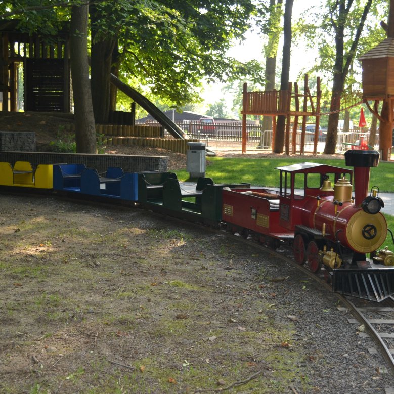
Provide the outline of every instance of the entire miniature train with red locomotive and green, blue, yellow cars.
{"type": "Polygon", "coordinates": [[[278,191],[215,184],[205,177],[180,182],[173,172],[110,167],[99,174],[83,164],[33,170],[18,161],[14,166],[0,163],[0,186],[128,202],[270,246],[288,243],[298,264],[306,263],[315,273],[323,268],[333,291],[381,301],[394,294],[394,254],[379,250],[387,232],[393,236],[380,212],[379,189],[368,191],[370,167],[378,161],[376,151],[349,150],[345,163],[354,170],[317,163],[278,167],[278,191]]]}

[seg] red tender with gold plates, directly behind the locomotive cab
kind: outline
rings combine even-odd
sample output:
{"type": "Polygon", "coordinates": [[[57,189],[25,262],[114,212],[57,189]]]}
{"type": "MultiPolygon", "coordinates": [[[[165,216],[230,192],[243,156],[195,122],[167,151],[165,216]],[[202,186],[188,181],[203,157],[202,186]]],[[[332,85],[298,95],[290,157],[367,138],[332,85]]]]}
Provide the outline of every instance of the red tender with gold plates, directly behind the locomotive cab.
{"type": "Polygon", "coordinates": [[[225,222],[267,235],[288,232],[279,225],[279,199],[275,191],[224,189],[222,198],[225,222]]]}

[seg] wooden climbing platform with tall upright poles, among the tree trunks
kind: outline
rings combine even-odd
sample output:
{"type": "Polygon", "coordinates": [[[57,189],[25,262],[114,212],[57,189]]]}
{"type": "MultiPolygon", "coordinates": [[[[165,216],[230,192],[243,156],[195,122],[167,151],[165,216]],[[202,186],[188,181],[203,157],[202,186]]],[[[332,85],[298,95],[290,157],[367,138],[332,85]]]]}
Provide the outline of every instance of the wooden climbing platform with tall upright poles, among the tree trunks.
{"type": "Polygon", "coordinates": [[[290,82],[287,90],[273,90],[264,92],[248,92],[247,83],[243,85],[242,100],[242,153],[246,153],[246,116],[247,115],[264,115],[272,116],[272,141],[275,139],[276,117],[283,115],[286,117],[285,127],[285,153],[290,154],[290,126],[291,117],[294,117],[291,138],[291,153],[297,153],[297,129],[298,121],[301,117],[301,137],[299,153],[304,154],[305,145],[305,127],[307,117],[315,117],[315,138],[313,154],[317,153],[317,144],[319,137],[320,122],[320,78],[317,78],[317,95],[312,96],[308,87],[308,75],[304,75],[304,93],[298,92],[298,84],[294,83],[294,92],[292,92],[292,83],[290,82]],[[313,99],[316,99],[315,103],[313,99]],[[291,109],[292,99],[294,99],[294,110],[291,109]]]}

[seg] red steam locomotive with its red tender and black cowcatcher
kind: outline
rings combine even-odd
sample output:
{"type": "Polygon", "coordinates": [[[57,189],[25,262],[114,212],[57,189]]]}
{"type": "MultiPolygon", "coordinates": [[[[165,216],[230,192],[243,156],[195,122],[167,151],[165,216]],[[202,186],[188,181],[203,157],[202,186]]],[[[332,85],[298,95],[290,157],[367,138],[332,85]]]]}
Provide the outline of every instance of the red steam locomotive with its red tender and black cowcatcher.
{"type": "Polygon", "coordinates": [[[376,151],[349,150],[345,162],[354,171],[316,163],[278,167],[279,192],[223,190],[223,221],[271,245],[292,242],[296,262],[313,272],[323,266],[334,291],[380,301],[394,293],[394,255],[378,251],[387,223],[378,188],[368,195],[370,167],[378,161],[376,151]]]}

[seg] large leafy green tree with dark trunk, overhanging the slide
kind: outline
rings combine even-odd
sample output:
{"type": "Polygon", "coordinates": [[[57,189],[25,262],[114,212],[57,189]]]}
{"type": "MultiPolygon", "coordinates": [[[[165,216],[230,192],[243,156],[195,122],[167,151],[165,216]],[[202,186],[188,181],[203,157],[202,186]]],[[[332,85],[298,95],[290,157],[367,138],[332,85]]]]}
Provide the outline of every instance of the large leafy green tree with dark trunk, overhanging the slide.
{"type": "MultiPolygon", "coordinates": [[[[91,8],[92,86],[102,84],[97,79],[109,74],[112,63],[123,80],[138,77],[154,94],[181,106],[196,99],[196,87],[204,78],[228,81],[246,72],[257,76],[261,70],[257,62],[247,67],[226,56],[233,39],[242,38],[250,26],[254,12],[252,0],[95,3],[91,8]],[[111,48],[117,56],[108,62],[111,48]]],[[[106,112],[103,103],[109,101],[106,86],[105,81],[104,90],[93,97],[98,116],[106,112]]]]}

